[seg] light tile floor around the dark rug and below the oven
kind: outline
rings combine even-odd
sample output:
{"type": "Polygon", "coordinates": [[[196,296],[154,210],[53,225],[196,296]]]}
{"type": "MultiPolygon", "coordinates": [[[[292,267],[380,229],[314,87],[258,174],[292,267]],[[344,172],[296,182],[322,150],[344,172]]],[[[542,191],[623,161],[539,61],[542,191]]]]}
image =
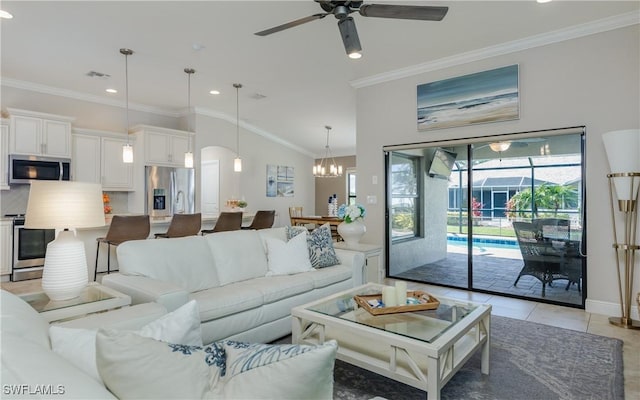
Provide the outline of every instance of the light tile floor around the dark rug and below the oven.
{"type": "MultiPolygon", "coordinates": [[[[395,280],[393,279],[385,280],[385,284],[388,285],[393,285],[394,282],[395,280]]],[[[10,292],[29,293],[40,289],[40,281],[2,282],[1,286],[2,289],[10,292]]],[[[436,296],[440,295],[489,303],[492,306],[492,314],[494,315],[621,339],[624,342],[625,398],[640,399],[640,330],[619,328],[611,325],[606,315],[591,314],[584,310],[570,307],[561,307],[413,282],[409,282],[407,286],[409,289],[424,290],[436,296]]]]}

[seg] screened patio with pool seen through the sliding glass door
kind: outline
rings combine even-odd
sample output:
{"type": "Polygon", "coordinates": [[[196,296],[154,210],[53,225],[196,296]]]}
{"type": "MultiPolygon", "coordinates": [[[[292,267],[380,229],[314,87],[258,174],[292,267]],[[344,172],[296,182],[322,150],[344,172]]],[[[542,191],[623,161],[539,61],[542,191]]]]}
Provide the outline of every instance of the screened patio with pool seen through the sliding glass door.
{"type": "Polygon", "coordinates": [[[583,140],[580,127],[386,148],[387,275],[583,308],[583,140]]]}

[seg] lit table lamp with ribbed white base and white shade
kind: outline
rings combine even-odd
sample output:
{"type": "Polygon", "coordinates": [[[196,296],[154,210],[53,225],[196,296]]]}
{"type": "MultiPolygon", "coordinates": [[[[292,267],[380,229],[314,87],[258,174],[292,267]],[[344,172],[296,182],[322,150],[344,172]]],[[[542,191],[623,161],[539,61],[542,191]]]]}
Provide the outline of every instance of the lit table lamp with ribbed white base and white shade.
{"type": "Polygon", "coordinates": [[[25,217],[25,228],[56,229],[47,245],[42,271],[42,289],[51,300],[78,297],[89,280],[84,242],[75,228],[104,226],[102,187],[95,183],[33,181],[25,217]]]}

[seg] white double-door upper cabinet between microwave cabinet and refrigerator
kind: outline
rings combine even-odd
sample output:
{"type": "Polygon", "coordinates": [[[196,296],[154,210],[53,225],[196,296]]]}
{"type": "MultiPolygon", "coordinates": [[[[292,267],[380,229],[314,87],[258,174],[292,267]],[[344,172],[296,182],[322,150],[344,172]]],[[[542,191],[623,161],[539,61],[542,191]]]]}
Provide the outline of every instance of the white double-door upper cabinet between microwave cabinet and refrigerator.
{"type": "Polygon", "coordinates": [[[132,191],[133,164],[122,162],[122,134],[75,129],[72,179],[102,184],[102,190],[132,191]]]}

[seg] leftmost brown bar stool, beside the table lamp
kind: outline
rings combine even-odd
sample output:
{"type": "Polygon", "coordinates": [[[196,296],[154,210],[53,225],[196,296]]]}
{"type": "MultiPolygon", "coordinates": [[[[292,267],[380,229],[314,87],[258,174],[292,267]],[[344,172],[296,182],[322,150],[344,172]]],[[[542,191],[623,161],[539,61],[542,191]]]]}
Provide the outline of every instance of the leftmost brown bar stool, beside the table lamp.
{"type": "Polygon", "coordinates": [[[148,215],[114,215],[107,236],[97,238],[96,266],[93,274],[95,281],[98,276],[98,257],[100,244],[107,244],[107,274],[111,273],[111,246],[118,246],[128,240],[140,240],[149,237],[151,224],[148,215]]]}

